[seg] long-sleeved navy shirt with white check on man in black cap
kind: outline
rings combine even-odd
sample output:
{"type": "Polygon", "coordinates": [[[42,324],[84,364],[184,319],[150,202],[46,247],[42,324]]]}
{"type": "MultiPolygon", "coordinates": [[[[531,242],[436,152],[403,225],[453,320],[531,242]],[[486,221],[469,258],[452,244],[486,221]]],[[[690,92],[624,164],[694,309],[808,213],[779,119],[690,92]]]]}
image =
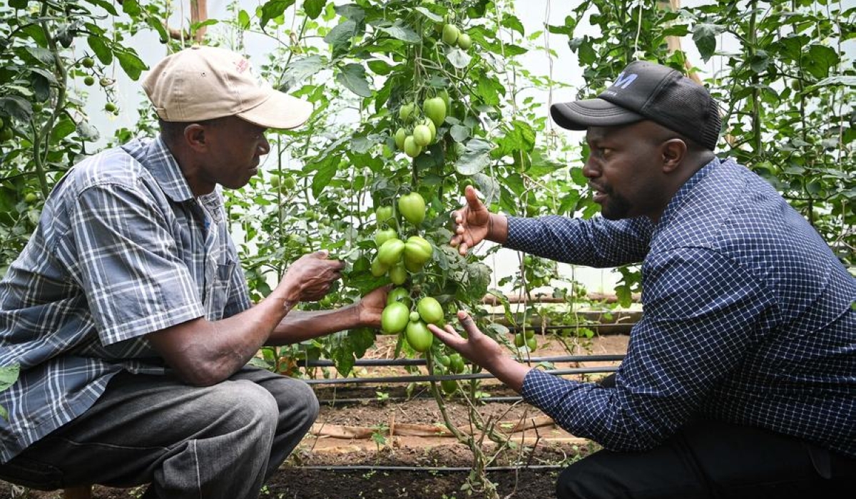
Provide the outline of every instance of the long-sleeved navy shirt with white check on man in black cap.
{"type": "Polygon", "coordinates": [[[856,456],[856,280],[748,169],[716,159],[638,218],[510,218],[507,247],[591,266],[642,262],[645,307],[616,387],[532,370],[523,396],[607,449],[651,449],[692,418],[856,456]]]}

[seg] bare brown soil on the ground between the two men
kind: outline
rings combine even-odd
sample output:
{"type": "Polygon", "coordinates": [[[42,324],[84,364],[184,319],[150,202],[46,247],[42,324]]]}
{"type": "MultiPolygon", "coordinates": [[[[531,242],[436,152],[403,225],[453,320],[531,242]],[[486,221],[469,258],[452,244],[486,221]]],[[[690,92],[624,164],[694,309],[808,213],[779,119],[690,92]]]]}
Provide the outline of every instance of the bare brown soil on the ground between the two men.
{"type": "MultiPolygon", "coordinates": [[[[394,351],[393,339],[379,336],[366,357],[389,357],[394,351]]],[[[600,336],[564,344],[543,336],[538,340],[535,354],[542,357],[625,353],[627,349],[627,336],[600,336]]],[[[616,364],[566,362],[553,367],[616,364]]],[[[409,374],[420,372],[412,370],[409,374]]],[[[356,377],[407,374],[397,366],[358,368],[354,372],[356,377]]],[[[433,399],[429,383],[314,384],[313,388],[322,401],[318,421],[262,490],[263,499],[462,499],[490,496],[481,489],[485,484],[496,487],[499,497],[544,499],[555,495],[556,477],[564,466],[597,449],[593,443],[558,428],[538,409],[502,398],[515,394],[493,379],[479,383],[479,398],[459,391],[445,399],[446,418],[461,431],[460,439],[443,425],[443,411],[433,399]],[[480,427],[471,421],[478,421],[480,427]],[[488,471],[468,484],[473,448],[481,449],[488,471]]],[[[96,485],[92,497],[128,499],[139,497],[143,490],[96,485]]],[[[7,497],[60,499],[62,492],[22,490],[0,482],[0,499],[7,497]]]]}

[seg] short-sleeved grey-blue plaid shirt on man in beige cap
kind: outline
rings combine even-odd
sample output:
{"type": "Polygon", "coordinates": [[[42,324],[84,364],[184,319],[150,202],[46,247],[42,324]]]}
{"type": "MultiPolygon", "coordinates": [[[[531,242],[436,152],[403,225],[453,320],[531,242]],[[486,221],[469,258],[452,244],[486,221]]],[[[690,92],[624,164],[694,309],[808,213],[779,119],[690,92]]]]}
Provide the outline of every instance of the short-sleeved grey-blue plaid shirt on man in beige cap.
{"type": "Polygon", "coordinates": [[[161,140],[134,140],[68,171],[0,282],[0,460],[92,406],[110,377],[162,374],[144,337],[250,306],[219,192],[194,198],[161,140]]]}

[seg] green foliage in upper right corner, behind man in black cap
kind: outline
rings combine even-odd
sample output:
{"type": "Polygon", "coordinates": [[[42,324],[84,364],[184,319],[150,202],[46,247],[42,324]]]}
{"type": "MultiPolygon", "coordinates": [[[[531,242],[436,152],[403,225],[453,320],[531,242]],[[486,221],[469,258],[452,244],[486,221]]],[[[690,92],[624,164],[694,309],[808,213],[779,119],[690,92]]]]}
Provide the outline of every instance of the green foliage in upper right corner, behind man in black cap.
{"type": "MultiPolygon", "coordinates": [[[[856,71],[843,48],[852,43],[856,9],[841,2],[730,0],[674,12],[637,0],[588,0],[575,12],[548,29],[568,35],[586,68],[580,98],[597,95],[633,59],[687,72],[687,56],[671,51],[667,37],[692,33],[705,62],[722,62],[716,73],[697,74],[720,100],[720,151],[764,176],[844,264],[856,264],[856,71]],[[603,36],[577,33],[586,16],[603,36]]],[[[622,302],[639,291],[633,272],[622,270],[622,302]]]]}

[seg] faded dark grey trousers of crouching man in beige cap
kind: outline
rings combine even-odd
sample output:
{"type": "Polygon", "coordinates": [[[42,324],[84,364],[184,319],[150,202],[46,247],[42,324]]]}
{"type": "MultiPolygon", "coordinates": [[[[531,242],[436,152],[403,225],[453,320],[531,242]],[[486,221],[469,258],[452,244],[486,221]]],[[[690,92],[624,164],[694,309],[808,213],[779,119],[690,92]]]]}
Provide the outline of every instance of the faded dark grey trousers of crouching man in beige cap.
{"type": "Polygon", "coordinates": [[[318,416],[300,380],[244,368],[193,387],[117,374],[86,413],[0,466],[35,489],[151,483],[146,499],[252,499],[318,416]]]}

